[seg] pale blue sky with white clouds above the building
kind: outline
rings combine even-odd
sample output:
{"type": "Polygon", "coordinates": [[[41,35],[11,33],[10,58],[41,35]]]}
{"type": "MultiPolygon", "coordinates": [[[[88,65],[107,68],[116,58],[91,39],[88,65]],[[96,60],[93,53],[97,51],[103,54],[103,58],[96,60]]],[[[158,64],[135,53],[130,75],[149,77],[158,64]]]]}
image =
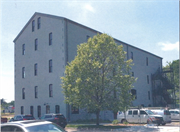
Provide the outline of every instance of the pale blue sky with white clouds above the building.
{"type": "Polygon", "coordinates": [[[14,100],[13,40],[35,12],[68,18],[163,58],[179,59],[179,0],[1,0],[0,99],[14,100]]]}

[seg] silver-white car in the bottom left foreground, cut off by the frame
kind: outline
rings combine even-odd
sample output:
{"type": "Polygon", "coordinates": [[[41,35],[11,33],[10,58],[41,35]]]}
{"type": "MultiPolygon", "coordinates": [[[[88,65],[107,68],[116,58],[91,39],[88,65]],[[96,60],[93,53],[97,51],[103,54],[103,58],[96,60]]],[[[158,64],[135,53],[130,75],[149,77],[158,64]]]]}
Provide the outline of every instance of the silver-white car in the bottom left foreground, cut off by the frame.
{"type": "Polygon", "coordinates": [[[66,132],[60,126],[40,120],[16,121],[1,124],[1,132],[66,132]]]}

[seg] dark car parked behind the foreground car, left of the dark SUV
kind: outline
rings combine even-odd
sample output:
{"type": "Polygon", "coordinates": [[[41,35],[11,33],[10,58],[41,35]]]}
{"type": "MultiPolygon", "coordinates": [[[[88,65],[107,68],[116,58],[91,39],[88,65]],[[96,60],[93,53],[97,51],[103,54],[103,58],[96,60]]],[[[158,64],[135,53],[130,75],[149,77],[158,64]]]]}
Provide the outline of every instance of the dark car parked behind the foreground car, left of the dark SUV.
{"type": "Polygon", "coordinates": [[[35,120],[35,118],[32,115],[16,115],[13,118],[11,118],[9,122],[22,120],[35,120]]]}

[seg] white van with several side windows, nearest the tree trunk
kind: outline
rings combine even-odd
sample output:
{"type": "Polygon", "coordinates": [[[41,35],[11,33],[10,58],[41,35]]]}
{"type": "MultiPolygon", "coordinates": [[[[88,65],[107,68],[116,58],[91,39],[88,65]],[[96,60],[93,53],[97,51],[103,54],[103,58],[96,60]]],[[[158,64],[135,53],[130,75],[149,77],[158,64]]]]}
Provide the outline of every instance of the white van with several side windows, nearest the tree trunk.
{"type": "Polygon", "coordinates": [[[121,111],[117,113],[117,120],[121,123],[129,122],[129,123],[147,123],[149,124],[149,119],[153,118],[155,124],[162,124],[163,118],[161,115],[154,115],[151,110],[146,109],[129,109],[124,114],[121,111]]]}

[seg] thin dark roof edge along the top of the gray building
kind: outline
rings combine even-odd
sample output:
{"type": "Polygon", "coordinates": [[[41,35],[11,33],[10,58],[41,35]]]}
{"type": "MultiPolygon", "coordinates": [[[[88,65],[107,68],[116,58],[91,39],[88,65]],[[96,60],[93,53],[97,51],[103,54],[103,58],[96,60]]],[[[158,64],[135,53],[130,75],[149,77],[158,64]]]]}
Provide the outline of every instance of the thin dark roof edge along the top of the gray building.
{"type": "MultiPolygon", "coordinates": [[[[75,22],[75,21],[72,21],[72,20],[70,20],[70,19],[67,19],[67,18],[65,18],[65,17],[60,17],[60,16],[55,16],[55,15],[50,15],[50,14],[44,14],[44,13],[35,12],[34,15],[29,19],[29,21],[26,23],[26,25],[23,27],[23,29],[20,31],[20,33],[17,35],[17,37],[14,39],[13,42],[15,42],[15,41],[19,38],[19,36],[22,34],[22,32],[23,32],[23,31],[25,30],[25,28],[27,27],[27,25],[29,25],[29,23],[32,21],[32,19],[33,19],[36,15],[45,16],[45,17],[50,17],[50,18],[54,18],[54,19],[61,19],[61,20],[64,19],[64,20],[66,20],[66,21],[69,21],[69,22],[71,22],[71,23],[74,23],[74,24],[76,24],[76,25],[79,25],[79,26],[81,26],[81,27],[83,27],[83,28],[86,28],[86,29],[88,29],[88,30],[91,30],[91,31],[94,31],[94,32],[97,32],[97,33],[100,33],[100,34],[101,34],[101,32],[99,32],[99,31],[97,31],[97,30],[94,30],[94,29],[92,29],[92,28],[89,28],[89,27],[87,27],[87,26],[84,26],[84,25],[82,25],[82,24],[79,24],[79,23],[77,23],[77,22],[75,22]]],[[[162,59],[162,57],[159,57],[159,56],[157,56],[157,55],[155,55],[155,54],[152,54],[152,53],[150,53],[150,52],[148,52],[148,51],[145,51],[145,50],[142,50],[142,49],[137,48],[137,47],[135,47],[135,46],[132,46],[132,45],[127,44],[127,43],[125,43],[125,42],[123,42],[123,41],[120,41],[120,40],[118,40],[118,39],[115,39],[115,38],[113,38],[113,39],[114,39],[115,41],[118,41],[118,42],[122,43],[122,44],[125,44],[125,45],[127,45],[127,46],[133,47],[133,48],[135,48],[135,49],[141,50],[141,51],[143,51],[143,52],[146,52],[146,53],[148,53],[148,54],[151,54],[151,55],[153,55],[153,56],[156,56],[156,57],[162,59]]]]}

